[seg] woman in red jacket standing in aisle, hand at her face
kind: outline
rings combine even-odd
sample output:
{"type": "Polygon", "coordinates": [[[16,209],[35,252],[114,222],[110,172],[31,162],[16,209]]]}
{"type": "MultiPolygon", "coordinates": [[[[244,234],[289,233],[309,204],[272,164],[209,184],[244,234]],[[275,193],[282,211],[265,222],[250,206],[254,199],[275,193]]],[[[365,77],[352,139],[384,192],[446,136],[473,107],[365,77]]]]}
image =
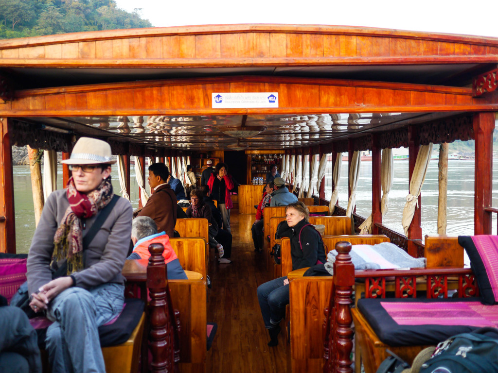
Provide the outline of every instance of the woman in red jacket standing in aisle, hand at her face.
{"type": "Polygon", "coordinates": [[[218,202],[218,209],[223,220],[223,229],[232,233],[230,229],[230,209],[234,206],[230,198],[230,189],[234,188],[234,181],[228,175],[228,166],[225,163],[218,163],[215,171],[208,180],[208,187],[211,197],[218,202]]]}

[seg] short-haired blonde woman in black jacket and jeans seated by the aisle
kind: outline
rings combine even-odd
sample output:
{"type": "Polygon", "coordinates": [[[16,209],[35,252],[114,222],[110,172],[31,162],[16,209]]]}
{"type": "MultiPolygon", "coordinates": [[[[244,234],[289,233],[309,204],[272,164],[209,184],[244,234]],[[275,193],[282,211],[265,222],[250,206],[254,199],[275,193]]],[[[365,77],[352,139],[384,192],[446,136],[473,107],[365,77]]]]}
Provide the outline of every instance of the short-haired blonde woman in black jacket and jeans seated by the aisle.
{"type": "MultiPolygon", "coordinates": [[[[308,223],[309,211],[303,202],[289,204],[285,208],[285,221],[279,228],[280,237],[290,238],[292,271],[325,263],[325,249],[320,233],[308,223]]],[[[287,276],[265,282],[257,288],[257,298],[264,326],[270,334],[268,346],[278,345],[278,333],[289,304],[289,280],[287,276]]]]}

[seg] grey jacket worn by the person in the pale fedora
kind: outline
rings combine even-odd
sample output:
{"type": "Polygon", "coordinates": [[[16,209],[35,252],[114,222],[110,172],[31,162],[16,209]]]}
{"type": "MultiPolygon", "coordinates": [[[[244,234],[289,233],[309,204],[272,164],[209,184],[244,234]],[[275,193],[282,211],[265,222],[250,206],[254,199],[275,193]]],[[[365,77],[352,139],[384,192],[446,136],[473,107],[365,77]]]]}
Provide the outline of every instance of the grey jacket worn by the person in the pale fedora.
{"type": "MultiPolygon", "coordinates": [[[[29,294],[52,280],[49,266],[54,250],[54,234],[68,206],[66,189],[61,189],[50,193],[43,207],[27,260],[29,294]]],[[[83,236],[88,233],[96,217],[86,219],[83,236]]],[[[84,270],[73,274],[76,286],[88,289],[108,282],[124,283],[121,271],[128,253],[132,217],[133,209],[129,201],[118,199],[109,217],[84,251],[84,270]]]]}

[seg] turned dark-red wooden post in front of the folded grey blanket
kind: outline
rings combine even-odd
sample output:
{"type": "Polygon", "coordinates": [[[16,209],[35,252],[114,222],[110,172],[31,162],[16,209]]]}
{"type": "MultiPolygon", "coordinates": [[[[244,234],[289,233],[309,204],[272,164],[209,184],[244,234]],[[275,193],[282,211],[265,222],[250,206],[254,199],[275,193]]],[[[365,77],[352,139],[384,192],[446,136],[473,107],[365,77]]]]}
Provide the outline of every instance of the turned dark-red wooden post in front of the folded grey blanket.
{"type": "Polygon", "coordinates": [[[341,241],[336,244],[339,253],[334,263],[334,288],[335,288],[335,322],[333,329],[333,352],[335,356],[335,372],[351,373],[351,351],[353,350],[353,329],[351,324],[350,305],[353,285],[355,283],[355,267],[351,262],[351,244],[341,241]]]}

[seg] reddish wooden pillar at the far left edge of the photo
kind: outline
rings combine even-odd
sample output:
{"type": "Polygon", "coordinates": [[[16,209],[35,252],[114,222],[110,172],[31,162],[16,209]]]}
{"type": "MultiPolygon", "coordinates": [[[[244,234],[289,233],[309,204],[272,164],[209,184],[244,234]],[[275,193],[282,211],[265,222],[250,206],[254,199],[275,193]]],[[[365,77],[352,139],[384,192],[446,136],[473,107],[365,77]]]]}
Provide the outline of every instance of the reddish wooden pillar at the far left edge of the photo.
{"type": "Polygon", "coordinates": [[[15,254],[14,183],[8,118],[0,118],[0,252],[15,254]]]}

